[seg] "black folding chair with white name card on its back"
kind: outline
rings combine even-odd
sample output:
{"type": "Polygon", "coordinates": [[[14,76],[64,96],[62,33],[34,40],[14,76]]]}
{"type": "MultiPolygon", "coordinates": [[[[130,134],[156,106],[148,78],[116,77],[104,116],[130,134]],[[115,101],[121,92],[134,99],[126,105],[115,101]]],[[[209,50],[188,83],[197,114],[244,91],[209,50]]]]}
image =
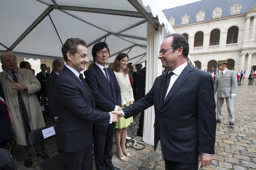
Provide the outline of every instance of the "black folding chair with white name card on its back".
{"type": "MultiPolygon", "coordinates": [[[[53,157],[50,157],[41,163],[39,162],[39,159],[36,156],[36,151],[35,151],[35,148],[33,145],[38,142],[43,142],[44,140],[48,140],[48,139],[56,136],[56,135],[52,135],[50,137],[44,138],[42,130],[50,128],[50,127],[54,127],[54,126],[49,125],[49,126],[45,126],[45,127],[36,129],[34,131],[31,131],[28,138],[29,138],[31,147],[33,149],[33,152],[35,154],[36,161],[37,161],[37,164],[38,164],[40,170],[63,170],[64,169],[63,153],[59,153],[53,157]]],[[[55,131],[55,127],[54,127],[54,131],[55,131]]]]}

